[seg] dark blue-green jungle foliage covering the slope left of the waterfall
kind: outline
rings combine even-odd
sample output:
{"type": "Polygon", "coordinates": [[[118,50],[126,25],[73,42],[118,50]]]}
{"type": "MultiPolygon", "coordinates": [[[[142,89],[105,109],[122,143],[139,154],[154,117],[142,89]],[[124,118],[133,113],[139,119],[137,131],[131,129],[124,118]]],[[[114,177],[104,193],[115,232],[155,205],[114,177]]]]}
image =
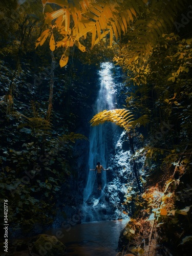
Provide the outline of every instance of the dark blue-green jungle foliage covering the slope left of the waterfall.
{"type": "Polygon", "coordinates": [[[42,25],[41,7],[25,3],[19,8],[7,3],[1,20],[7,30],[1,34],[0,187],[1,200],[9,202],[10,237],[25,236],[35,227],[41,230],[52,224],[57,214],[55,202],[75,173],[73,145],[76,140],[87,139],[75,129],[80,123],[78,115],[92,97],[85,87],[92,84],[95,71],[88,67],[89,75],[83,75],[78,60],[75,65],[69,62],[65,74],[57,70],[49,113],[51,55],[45,58],[49,46],[35,51],[42,25]],[[7,23],[10,13],[14,22],[11,19],[7,23]],[[79,78],[77,70],[86,79],[79,78]]]}

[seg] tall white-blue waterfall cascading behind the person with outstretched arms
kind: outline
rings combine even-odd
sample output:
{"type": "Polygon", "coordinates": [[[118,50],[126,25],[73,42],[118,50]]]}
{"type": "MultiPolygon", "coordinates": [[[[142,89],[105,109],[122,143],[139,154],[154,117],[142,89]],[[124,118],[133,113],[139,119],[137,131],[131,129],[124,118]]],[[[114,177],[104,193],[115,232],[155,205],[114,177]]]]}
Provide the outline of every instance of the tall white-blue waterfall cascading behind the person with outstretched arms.
{"type": "MultiPolygon", "coordinates": [[[[112,78],[112,63],[104,62],[101,64],[100,76],[100,90],[97,96],[95,104],[93,104],[94,114],[103,110],[111,110],[114,108],[114,85],[112,78]]],[[[90,130],[90,152],[89,152],[89,169],[95,169],[97,162],[100,162],[103,168],[107,166],[107,143],[106,143],[106,124],[91,127],[90,130]]],[[[92,201],[92,204],[88,204],[88,200],[92,195],[97,192],[95,184],[96,173],[92,170],[88,170],[87,173],[87,185],[83,191],[83,205],[82,211],[84,220],[86,221],[99,221],[100,216],[95,206],[99,203],[99,200],[104,195],[104,189],[106,186],[106,172],[102,170],[102,190],[99,191],[100,196],[92,201]]],[[[98,192],[97,192],[98,193],[98,192]]]]}

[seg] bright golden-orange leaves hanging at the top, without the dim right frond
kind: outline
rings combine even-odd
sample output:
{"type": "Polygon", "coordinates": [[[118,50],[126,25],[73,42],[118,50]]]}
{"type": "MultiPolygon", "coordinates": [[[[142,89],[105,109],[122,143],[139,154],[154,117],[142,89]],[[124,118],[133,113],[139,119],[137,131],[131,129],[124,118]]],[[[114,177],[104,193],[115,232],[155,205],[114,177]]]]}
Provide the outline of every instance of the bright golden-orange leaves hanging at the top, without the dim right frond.
{"type": "MultiPolygon", "coordinates": [[[[63,39],[57,42],[57,47],[72,47],[74,44],[85,51],[80,45],[79,39],[87,33],[92,33],[92,47],[94,47],[103,37],[110,34],[110,46],[113,38],[125,34],[127,24],[133,22],[137,17],[141,8],[146,4],[145,0],[42,0],[42,5],[45,9],[47,4],[55,4],[58,10],[51,13],[46,13],[45,23],[50,25],[51,29],[57,28],[63,39]],[[55,26],[53,26],[53,22],[55,26]]],[[[50,29],[42,32],[37,39],[36,47],[44,44],[48,36],[52,36],[50,29]]],[[[51,39],[50,39],[51,40],[51,39]]],[[[50,49],[55,49],[55,44],[50,44],[50,49]]],[[[66,51],[62,58],[65,61],[60,61],[60,66],[63,67],[68,62],[66,51]]]]}

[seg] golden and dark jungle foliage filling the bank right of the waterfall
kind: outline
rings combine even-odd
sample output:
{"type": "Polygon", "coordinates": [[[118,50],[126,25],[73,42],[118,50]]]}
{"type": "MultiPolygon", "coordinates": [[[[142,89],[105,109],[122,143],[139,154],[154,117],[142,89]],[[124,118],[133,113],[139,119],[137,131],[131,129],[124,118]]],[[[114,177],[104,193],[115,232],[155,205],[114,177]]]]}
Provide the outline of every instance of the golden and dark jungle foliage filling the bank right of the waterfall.
{"type": "Polygon", "coordinates": [[[127,86],[132,81],[136,89],[127,95],[126,107],[150,118],[150,136],[133,155],[145,159],[145,191],[134,197],[127,187],[126,203],[135,202],[134,218],[118,255],[191,251],[191,51],[191,33],[186,38],[170,33],[162,34],[146,58],[129,62],[123,42],[115,57],[127,72],[127,86]]]}

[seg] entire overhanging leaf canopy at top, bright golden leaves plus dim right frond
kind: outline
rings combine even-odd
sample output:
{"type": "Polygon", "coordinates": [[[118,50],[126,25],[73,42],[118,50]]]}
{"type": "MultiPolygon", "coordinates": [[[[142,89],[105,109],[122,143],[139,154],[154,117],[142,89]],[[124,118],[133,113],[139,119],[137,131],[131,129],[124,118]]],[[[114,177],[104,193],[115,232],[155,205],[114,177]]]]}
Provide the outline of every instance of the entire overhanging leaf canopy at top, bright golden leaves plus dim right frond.
{"type": "Polygon", "coordinates": [[[182,4],[182,0],[153,0],[151,3],[145,0],[42,0],[46,13],[45,25],[50,29],[42,32],[36,47],[44,44],[47,37],[51,36],[51,51],[55,50],[55,46],[65,48],[63,55],[67,57],[62,55],[61,58],[65,61],[60,61],[60,66],[63,67],[68,62],[68,47],[76,45],[82,52],[86,51],[79,40],[86,39],[88,33],[92,36],[92,48],[107,35],[111,47],[114,39],[118,40],[122,34],[129,33],[132,39],[126,45],[130,49],[128,65],[137,56],[146,57],[151,54],[159,37],[172,27],[173,17],[182,4]],[[48,4],[54,4],[57,9],[46,12],[48,4]],[[142,19],[138,19],[139,17],[142,19]],[[55,30],[62,36],[57,43],[53,36],[55,30]]]}

